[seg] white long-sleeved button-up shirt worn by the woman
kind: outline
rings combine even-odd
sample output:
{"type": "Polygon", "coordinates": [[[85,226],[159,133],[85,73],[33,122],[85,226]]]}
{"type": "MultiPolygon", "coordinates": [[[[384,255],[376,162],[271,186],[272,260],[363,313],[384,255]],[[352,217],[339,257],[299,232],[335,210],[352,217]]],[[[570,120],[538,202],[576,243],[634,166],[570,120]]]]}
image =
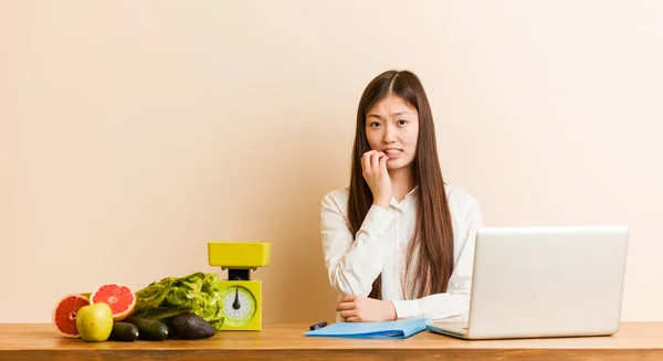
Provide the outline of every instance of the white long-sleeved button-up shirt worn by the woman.
{"type": "MultiPolygon", "coordinates": [[[[356,235],[348,223],[349,190],[327,193],[320,206],[323,252],[329,283],[339,298],[368,296],[381,274],[382,299],[393,302],[398,319],[424,317],[466,322],[474,241],[483,217],[478,202],[470,193],[453,185],[445,185],[445,192],[453,225],[453,270],[445,293],[420,299],[403,299],[401,286],[403,279],[412,282],[404,267],[417,220],[417,192],[408,193],[401,202],[392,199],[388,210],[371,205],[356,235]]],[[[337,321],[340,320],[337,315],[337,321]]]]}

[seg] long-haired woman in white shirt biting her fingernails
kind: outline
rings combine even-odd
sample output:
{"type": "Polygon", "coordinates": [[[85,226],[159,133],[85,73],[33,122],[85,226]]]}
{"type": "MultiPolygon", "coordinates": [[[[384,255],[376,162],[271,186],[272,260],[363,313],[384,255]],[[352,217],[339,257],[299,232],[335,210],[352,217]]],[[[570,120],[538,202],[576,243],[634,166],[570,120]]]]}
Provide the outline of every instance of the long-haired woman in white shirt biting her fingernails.
{"type": "Polygon", "coordinates": [[[357,110],[350,187],[325,195],[329,282],[348,322],[466,321],[476,200],[442,179],[430,105],[408,71],[372,79],[357,110]]]}

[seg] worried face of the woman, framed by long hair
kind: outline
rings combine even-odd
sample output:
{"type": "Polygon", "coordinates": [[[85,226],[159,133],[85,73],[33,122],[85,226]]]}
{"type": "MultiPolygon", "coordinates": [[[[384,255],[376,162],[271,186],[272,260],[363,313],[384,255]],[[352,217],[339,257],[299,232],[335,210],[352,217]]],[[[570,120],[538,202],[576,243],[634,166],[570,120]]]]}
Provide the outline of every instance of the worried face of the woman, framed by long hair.
{"type": "Polygon", "coordinates": [[[371,150],[387,155],[387,169],[409,167],[417,155],[419,113],[390,94],[366,114],[366,138],[371,150]]]}

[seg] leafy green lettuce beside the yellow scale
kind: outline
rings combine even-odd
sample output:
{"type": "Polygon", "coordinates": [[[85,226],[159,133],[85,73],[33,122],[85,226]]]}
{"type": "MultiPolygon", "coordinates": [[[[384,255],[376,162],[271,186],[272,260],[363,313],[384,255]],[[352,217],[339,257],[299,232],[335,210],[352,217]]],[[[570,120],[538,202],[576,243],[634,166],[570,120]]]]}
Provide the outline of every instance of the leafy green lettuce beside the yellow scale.
{"type": "Polygon", "coordinates": [[[213,273],[166,277],[136,293],[136,308],[131,316],[162,320],[191,312],[219,331],[223,325],[220,290],[219,275],[213,273]]]}

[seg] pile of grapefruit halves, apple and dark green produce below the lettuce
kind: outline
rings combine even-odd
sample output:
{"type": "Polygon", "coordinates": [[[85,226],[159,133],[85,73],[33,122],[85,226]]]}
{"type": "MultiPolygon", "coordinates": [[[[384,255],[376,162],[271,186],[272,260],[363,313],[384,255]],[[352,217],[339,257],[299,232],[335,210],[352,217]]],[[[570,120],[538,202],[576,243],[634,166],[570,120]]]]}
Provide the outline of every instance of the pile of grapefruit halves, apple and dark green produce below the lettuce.
{"type": "Polygon", "coordinates": [[[214,328],[200,316],[185,312],[168,320],[131,317],[136,295],[122,284],[102,285],[92,294],[70,294],[53,309],[52,322],[65,338],[83,341],[160,341],[167,338],[200,339],[214,328]]]}

